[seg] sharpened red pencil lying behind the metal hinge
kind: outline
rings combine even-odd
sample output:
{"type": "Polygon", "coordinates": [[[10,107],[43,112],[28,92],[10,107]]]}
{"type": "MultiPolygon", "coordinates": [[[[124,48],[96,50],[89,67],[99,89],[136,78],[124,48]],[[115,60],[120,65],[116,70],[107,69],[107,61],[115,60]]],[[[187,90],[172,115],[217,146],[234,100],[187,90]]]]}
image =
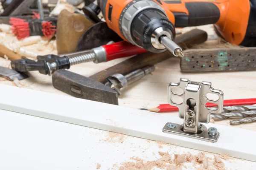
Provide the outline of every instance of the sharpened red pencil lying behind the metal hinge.
{"type": "MultiPolygon", "coordinates": [[[[256,98],[253,99],[233,99],[233,100],[224,100],[224,106],[235,106],[235,105],[254,105],[256,104],[256,98]]],[[[213,103],[207,103],[207,107],[215,107],[217,105],[213,103]]],[[[162,112],[172,112],[172,111],[179,111],[176,106],[171,106],[169,104],[162,104],[157,106],[156,108],[140,108],[140,110],[144,111],[151,111],[156,113],[162,112]]]]}

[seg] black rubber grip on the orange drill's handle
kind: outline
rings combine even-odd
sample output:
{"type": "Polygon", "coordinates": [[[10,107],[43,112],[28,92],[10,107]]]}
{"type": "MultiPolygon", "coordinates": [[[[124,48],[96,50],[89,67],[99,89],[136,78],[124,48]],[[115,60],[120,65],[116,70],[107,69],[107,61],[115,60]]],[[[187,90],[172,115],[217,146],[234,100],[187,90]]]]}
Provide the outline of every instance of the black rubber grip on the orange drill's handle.
{"type": "Polygon", "coordinates": [[[185,3],[189,11],[188,26],[214,24],[220,18],[220,11],[214,3],[192,2],[185,3]]]}

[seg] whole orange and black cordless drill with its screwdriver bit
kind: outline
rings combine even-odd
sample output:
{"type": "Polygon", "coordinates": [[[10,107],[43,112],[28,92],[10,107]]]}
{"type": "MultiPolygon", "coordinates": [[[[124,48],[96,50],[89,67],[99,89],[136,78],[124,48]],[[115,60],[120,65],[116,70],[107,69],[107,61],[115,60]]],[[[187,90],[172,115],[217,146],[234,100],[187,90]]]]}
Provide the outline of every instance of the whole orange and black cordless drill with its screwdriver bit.
{"type": "Polygon", "coordinates": [[[183,57],[175,27],[214,24],[236,45],[256,45],[256,0],[98,0],[109,28],[153,53],[168,49],[183,57]]]}

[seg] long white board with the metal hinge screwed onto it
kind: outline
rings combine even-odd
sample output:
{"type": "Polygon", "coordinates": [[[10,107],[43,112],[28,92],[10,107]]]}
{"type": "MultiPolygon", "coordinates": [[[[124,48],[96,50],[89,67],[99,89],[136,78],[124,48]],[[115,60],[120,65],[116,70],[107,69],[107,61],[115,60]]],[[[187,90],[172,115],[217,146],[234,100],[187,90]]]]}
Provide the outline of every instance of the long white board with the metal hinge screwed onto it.
{"type": "Polygon", "coordinates": [[[163,133],[166,122],[183,122],[174,116],[5,85],[0,86],[0,94],[3,110],[256,161],[256,132],[250,130],[206,124],[220,132],[218,142],[210,143],[163,133]]]}

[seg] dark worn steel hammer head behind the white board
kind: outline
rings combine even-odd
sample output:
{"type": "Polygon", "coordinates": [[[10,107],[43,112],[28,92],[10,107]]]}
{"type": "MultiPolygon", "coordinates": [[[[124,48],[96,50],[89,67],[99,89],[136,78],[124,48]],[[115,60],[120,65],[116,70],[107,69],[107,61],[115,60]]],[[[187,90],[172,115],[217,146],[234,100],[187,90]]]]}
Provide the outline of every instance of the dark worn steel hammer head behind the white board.
{"type": "Polygon", "coordinates": [[[96,80],[61,69],[52,75],[54,88],[71,96],[118,105],[118,94],[108,86],[96,80]]]}

